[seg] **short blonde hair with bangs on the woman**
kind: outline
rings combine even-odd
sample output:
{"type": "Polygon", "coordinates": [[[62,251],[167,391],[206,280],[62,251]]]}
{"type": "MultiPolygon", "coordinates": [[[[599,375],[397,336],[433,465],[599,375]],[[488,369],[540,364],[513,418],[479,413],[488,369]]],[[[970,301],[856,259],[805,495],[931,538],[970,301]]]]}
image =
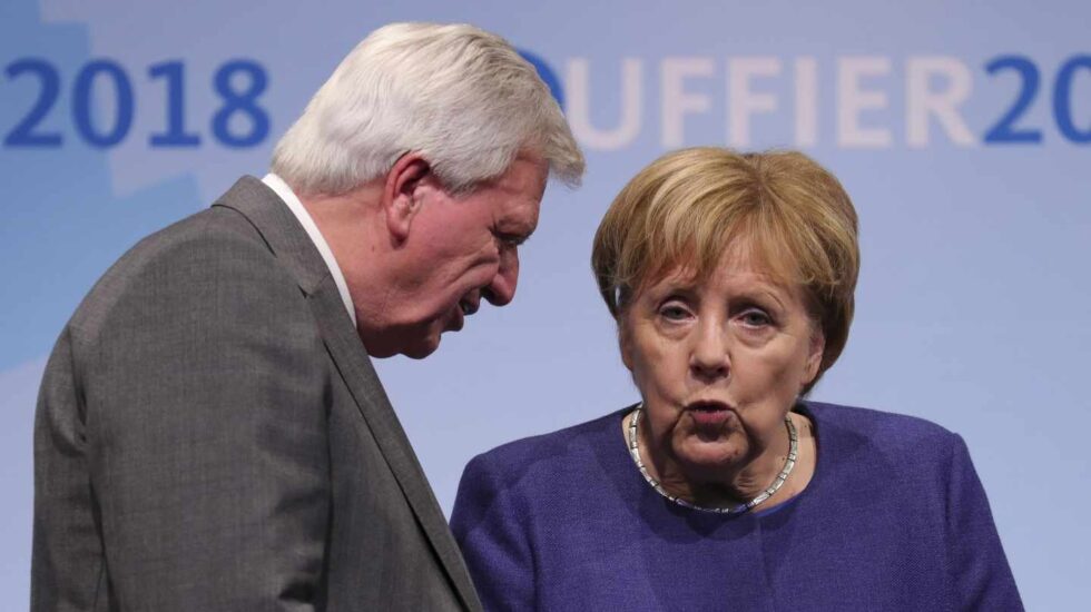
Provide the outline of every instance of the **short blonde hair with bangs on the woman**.
{"type": "Polygon", "coordinates": [[[857,218],[841,182],[807,156],[700,147],[667,154],[618,194],[591,267],[620,324],[633,296],[679,267],[702,280],[729,245],[795,285],[825,338],[818,376],[841,356],[859,273],[857,218]]]}

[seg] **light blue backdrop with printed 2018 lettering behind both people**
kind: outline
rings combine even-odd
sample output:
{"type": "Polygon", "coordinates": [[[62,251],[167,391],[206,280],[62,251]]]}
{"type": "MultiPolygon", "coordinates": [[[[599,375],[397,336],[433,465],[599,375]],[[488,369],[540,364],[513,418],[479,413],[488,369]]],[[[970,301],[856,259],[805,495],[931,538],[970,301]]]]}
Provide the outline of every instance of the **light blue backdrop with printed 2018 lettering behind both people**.
{"type": "Polygon", "coordinates": [[[574,0],[0,4],[0,592],[29,599],[45,359],[139,237],[207,206],[395,20],[535,58],[588,154],[551,187],[514,304],[380,375],[444,509],[466,461],[633,401],[589,272],[616,191],[680,146],[803,148],[861,215],[848,348],[818,399],[961,433],[1030,609],[1091,595],[1091,4],[574,0]]]}

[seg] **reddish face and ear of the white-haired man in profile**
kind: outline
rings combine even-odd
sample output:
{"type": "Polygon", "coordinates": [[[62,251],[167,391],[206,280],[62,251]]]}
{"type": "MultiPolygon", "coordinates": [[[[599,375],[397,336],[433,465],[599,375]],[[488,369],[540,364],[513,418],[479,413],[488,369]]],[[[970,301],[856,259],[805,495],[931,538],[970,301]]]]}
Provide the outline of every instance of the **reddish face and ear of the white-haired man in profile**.
{"type": "Polygon", "coordinates": [[[387,211],[400,241],[382,297],[383,342],[373,343],[377,356],[425,357],[442,333],[462,328],[482,298],[495,306],[512,300],[518,248],[538,226],[548,167],[520,157],[499,178],[459,196],[431,171],[413,178],[387,211]]]}

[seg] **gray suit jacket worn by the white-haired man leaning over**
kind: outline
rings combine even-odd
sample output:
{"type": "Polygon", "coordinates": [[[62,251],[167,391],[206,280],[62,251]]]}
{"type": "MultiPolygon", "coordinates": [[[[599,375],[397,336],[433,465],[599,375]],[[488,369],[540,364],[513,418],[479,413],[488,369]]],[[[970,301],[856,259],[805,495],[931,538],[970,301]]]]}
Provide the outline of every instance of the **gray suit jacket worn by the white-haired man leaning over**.
{"type": "Polygon", "coordinates": [[[31,609],[479,610],[321,255],[252,177],[98,282],[46,369],[31,609]]]}

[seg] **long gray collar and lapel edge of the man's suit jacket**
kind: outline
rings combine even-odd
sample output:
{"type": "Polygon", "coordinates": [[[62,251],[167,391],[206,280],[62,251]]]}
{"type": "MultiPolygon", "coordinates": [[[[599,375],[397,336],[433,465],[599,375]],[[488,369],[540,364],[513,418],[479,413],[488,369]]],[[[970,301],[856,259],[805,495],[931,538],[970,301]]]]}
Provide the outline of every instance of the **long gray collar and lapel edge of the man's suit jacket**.
{"type": "Polygon", "coordinates": [[[364,345],[337,292],[322,255],[298,220],[272,189],[254,177],[243,177],[214,206],[242,213],[266,244],[296,276],[307,295],[322,337],[342,378],[356,401],[380,451],[397,480],[405,500],[464,606],[480,610],[462,555],[440,504],[429,486],[405,432],[372,367],[364,345]]]}

